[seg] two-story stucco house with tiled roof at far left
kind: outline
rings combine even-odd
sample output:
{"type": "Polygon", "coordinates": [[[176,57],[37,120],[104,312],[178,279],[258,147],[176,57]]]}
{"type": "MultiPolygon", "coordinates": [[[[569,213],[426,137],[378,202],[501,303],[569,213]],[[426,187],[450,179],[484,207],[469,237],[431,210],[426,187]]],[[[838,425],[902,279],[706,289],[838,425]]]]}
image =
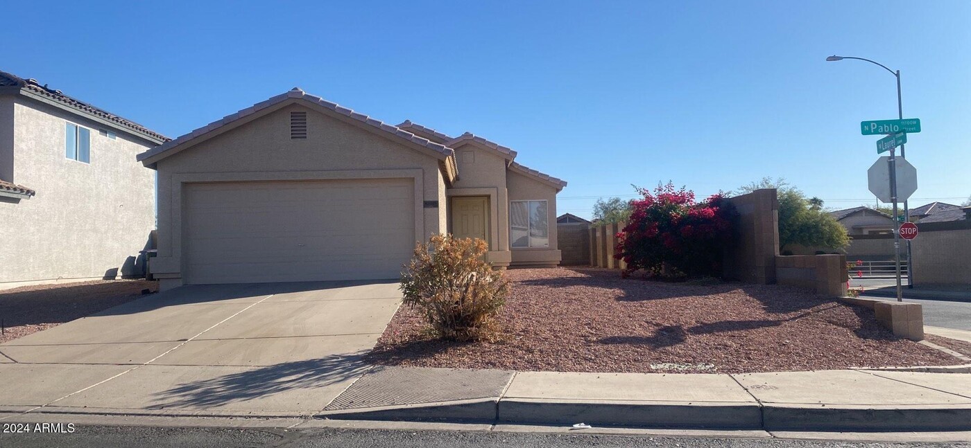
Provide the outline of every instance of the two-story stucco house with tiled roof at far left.
{"type": "Polygon", "coordinates": [[[144,273],[165,136],[0,72],[0,289],[144,273]]]}

